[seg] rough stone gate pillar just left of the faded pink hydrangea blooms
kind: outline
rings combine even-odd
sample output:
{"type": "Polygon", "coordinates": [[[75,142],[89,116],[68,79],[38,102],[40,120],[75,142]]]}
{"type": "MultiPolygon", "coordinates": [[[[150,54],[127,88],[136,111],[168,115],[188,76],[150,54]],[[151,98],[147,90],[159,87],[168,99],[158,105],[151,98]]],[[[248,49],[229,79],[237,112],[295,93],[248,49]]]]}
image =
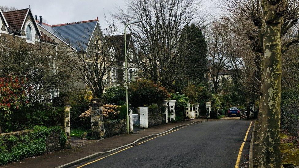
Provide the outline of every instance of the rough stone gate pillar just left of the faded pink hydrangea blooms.
{"type": "Polygon", "coordinates": [[[104,118],[103,118],[103,104],[100,99],[91,99],[89,103],[89,111],[91,118],[91,132],[93,137],[104,136],[104,118]]]}

